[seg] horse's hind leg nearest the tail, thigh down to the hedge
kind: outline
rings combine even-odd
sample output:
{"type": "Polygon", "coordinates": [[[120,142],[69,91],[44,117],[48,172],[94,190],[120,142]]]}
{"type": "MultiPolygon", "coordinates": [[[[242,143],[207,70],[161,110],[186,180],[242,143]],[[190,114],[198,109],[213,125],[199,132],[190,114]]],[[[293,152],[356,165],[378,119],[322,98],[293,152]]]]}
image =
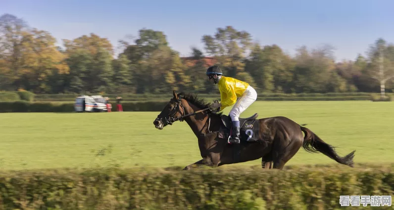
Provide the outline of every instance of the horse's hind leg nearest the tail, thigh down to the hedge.
{"type": "Polygon", "coordinates": [[[293,139],[290,144],[284,149],[284,151],[280,151],[282,153],[274,153],[273,162],[274,168],[282,170],[285,164],[293,158],[294,155],[298,152],[299,148],[302,146],[303,138],[293,139]]]}

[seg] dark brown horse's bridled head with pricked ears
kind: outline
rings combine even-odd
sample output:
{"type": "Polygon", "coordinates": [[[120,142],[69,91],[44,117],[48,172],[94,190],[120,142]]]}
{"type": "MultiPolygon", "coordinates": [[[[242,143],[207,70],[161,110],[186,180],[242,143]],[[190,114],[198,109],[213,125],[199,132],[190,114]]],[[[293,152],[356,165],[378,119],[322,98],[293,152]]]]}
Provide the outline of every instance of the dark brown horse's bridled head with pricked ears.
{"type": "Polygon", "coordinates": [[[153,121],[153,125],[157,129],[161,130],[167,125],[172,125],[172,123],[177,120],[182,120],[182,115],[185,114],[185,108],[182,105],[181,98],[176,94],[175,90],[173,90],[173,92],[174,97],[171,98],[157,118],[153,121]]]}

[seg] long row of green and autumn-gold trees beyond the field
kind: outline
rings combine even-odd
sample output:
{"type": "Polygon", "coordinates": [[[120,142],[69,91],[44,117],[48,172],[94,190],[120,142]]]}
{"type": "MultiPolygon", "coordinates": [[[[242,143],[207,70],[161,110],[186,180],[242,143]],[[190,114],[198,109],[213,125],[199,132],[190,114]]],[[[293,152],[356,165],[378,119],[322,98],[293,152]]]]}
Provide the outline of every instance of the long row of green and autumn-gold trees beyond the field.
{"type": "Polygon", "coordinates": [[[121,52],[96,34],[56,39],[12,14],[0,16],[0,90],[35,93],[168,93],[172,89],[211,93],[205,70],[218,64],[224,74],[259,92],[392,92],[394,45],[377,39],[366,56],[335,62],[334,48],[301,46],[290,56],[276,45],[252,42],[232,26],[201,37],[203,49],[180,57],[164,32],[143,28],[137,39],[120,40],[121,52]],[[205,53],[203,52],[205,51],[205,53]],[[116,57],[116,58],[115,58],[116,57]]]}

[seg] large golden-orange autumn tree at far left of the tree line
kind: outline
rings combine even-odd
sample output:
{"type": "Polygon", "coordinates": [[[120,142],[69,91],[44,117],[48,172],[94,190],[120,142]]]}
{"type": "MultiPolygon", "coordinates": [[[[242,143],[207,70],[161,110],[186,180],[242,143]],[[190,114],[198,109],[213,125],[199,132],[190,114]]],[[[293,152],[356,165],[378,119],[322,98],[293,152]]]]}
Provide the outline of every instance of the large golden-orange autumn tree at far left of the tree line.
{"type": "Polygon", "coordinates": [[[68,74],[65,57],[49,32],[31,29],[16,16],[4,14],[0,34],[0,78],[7,78],[8,85],[47,92],[51,75],[68,74]]]}

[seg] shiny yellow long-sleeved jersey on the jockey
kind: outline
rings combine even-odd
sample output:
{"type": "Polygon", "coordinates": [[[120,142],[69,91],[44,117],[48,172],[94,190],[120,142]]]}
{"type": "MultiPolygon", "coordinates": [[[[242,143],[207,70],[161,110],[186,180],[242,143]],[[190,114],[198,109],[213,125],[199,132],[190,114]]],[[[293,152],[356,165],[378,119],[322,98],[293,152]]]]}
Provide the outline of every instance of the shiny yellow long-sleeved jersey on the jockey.
{"type": "Polygon", "coordinates": [[[219,80],[218,87],[220,91],[220,111],[224,108],[235,104],[237,97],[241,97],[244,94],[249,84],[240,80],[222,76],[219,80]]]}

